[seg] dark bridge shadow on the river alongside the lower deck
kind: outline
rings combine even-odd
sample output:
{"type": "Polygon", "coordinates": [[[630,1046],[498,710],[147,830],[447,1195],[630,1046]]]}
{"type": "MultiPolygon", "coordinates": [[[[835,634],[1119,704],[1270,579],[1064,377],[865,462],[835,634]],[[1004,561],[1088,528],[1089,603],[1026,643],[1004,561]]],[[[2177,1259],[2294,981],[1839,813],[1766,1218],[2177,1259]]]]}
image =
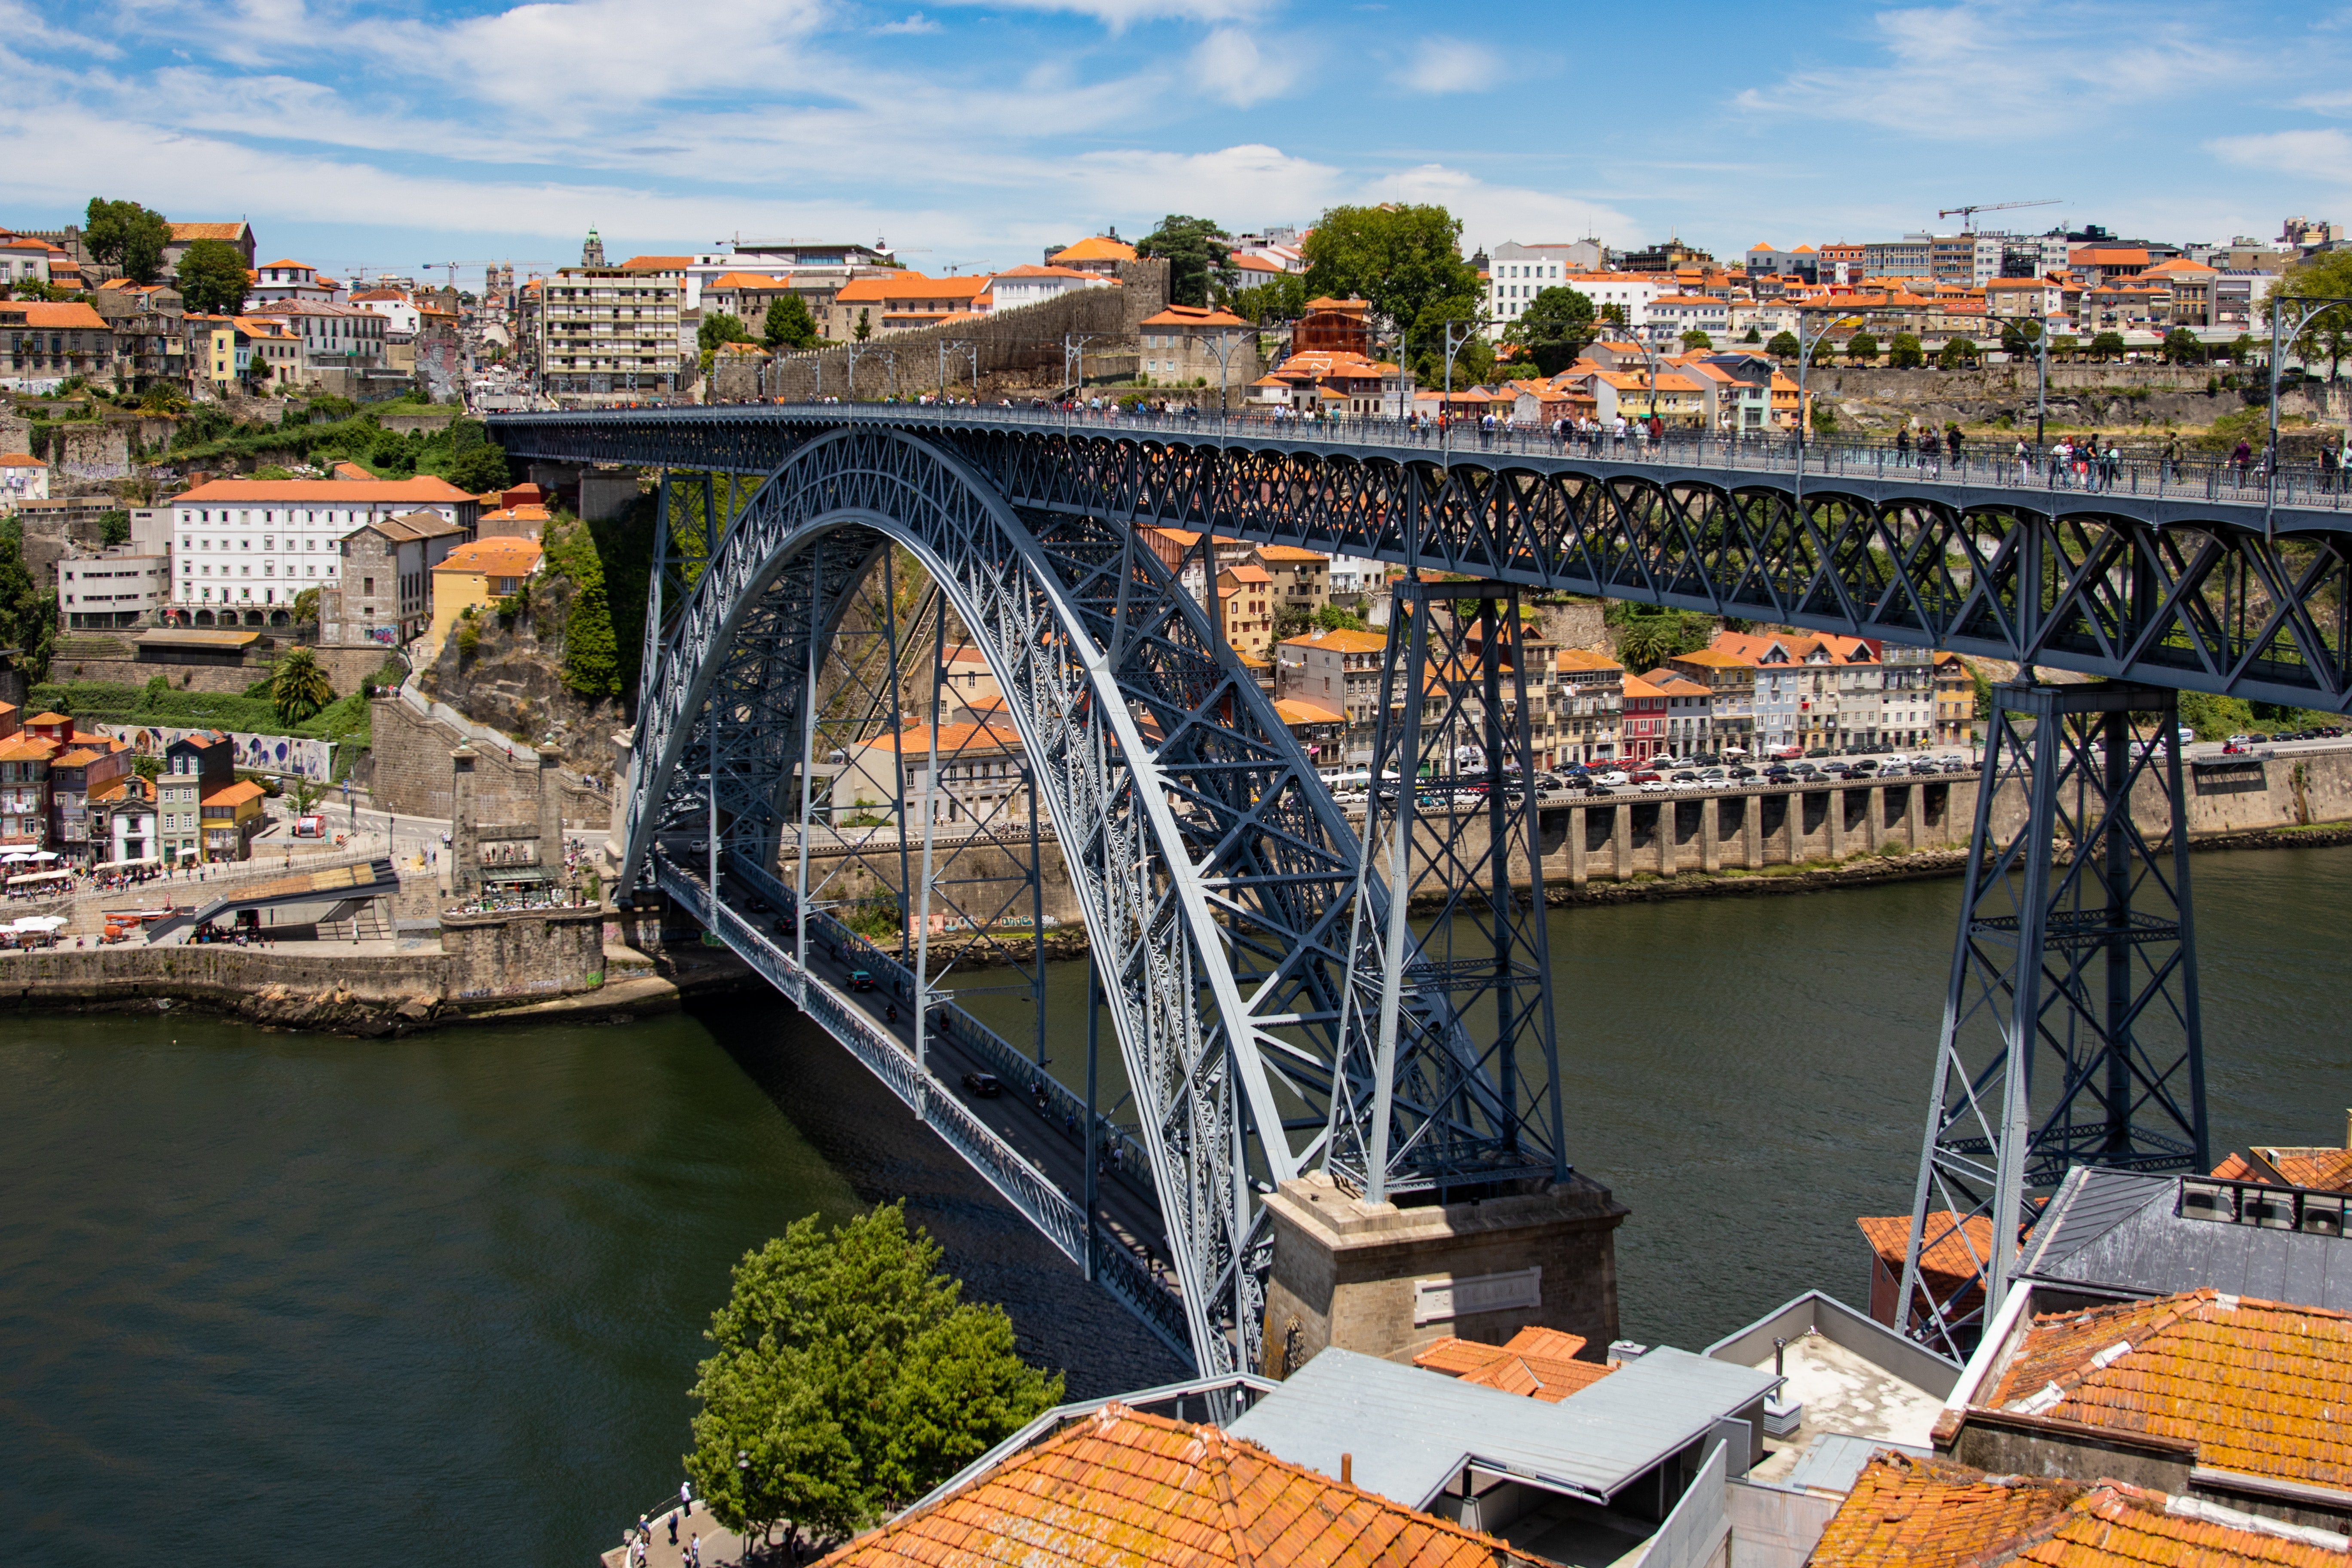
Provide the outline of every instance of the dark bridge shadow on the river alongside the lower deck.
{"type": "MultiPolygon", "coordinates": [[[[967,1298],[1000,1302],[1021,1354],[1065,1373],[1070,1399],[1190,1375],[786,997],[757,985],[687,1011],[861,1201],[906,1199],[967,1298]]],[[[779,1234],[790,1218],[776,1215],[779,1234]]]]}

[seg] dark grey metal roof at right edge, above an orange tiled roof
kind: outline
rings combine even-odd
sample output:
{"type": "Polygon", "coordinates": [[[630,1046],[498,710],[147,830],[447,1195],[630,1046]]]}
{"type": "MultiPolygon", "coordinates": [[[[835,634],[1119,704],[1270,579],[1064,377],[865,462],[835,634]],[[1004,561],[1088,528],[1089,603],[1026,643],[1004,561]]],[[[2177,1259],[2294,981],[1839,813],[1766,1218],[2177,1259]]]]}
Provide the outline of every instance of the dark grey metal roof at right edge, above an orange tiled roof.
{"type": "Polygon", "coordinates": [[[2211,1288],[2352,1312],[2352,1239],[2187,1218],[2178,1175],[2077,1166],[2025,1244],[2018,1276],[2124,1295],[2211,1288]]]}

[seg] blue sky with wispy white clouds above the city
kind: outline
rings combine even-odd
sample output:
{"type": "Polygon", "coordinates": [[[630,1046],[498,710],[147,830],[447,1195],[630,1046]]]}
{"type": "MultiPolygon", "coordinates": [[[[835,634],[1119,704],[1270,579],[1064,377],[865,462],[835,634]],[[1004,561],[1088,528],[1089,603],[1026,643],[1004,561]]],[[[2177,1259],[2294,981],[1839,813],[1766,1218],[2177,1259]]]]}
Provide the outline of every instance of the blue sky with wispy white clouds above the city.
{"type": "Polygon", "coordinates": [[[927,273],[1169,212],[1439,202],[1463,247],[1738,256],[2352,223],[2352,5],[0,0],[0,226],[92,195],[336,275],[729,237],[927,273]],[[1802,21],[1799,21],[1802,16],[1802,21]]]}

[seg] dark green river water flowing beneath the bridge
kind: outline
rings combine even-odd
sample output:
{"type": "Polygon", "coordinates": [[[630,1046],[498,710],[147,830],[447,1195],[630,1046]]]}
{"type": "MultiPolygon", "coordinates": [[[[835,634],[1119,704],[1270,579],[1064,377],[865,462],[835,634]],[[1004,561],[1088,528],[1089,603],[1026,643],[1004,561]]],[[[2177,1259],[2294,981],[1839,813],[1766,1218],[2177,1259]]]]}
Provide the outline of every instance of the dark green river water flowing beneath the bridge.
{"type": "MultiPolygon", "coordinates": [[[[2338,1143],[2352,849],[2194,875],[2216,1150],[2338,1143]]],[[[1910,1199],[1957,893],[1552,917],[1630,1338],[1863,1300],[1853,1215],[1910,1199]]],[[[769,997],[402,1041],[5,1016],[0,1105],[0,1512],[31,1561],[579,1568],[677,1486],[729,1265],[901,1194],[1073,1394],[1176,1373],[769,997]]]]}

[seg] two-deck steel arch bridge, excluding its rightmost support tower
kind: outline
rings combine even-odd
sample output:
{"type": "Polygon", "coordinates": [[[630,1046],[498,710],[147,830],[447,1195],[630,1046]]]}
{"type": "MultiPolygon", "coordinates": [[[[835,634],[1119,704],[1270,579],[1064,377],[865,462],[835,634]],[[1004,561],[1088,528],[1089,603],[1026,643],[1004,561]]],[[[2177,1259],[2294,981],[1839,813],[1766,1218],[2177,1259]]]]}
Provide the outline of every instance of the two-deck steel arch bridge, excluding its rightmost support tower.
{"type": "MultiPolygon", "coordinates": [[[[1446,451],[1397,430],[993,409],[630,409],[492,425],[517,458],[661,470],[666,552],[673,473],[701,484],[701,505],[684,508],[703,527],[694,559],[654,571],[623,886],[649,875],[703,917],[1202,1371],[1256,1359],[1268,1260],[1256,1197],[1268,1185],[1310,1166],[1371,1192],[1557,1180],[1566,1161],[1557,1074],[1531,1091],[1512,1056],[1550,1056],[1531,806],[1519,839],[1505,832],[1515,811],[1494,813],[1491,966],[1416,943],[1381,856],[1357,849],[1136,524],[1472,578],[1444,592],[1489,599],[1489,701],[1454,717],[1486,726],[1489,757],[1508,752],[1512,715],[1524,733],[1524,691],[1494,698],[1491,607],[1517,588],[2352,708],[2352,536],[2331,510],[2284,510],[2265,529],[2263,508],[2227,496],[2051,496],[1736,461],[1609,463],[1541,442],[1446,451]],[[715,498],[713,475],[757,487],[736,510],[715,498]],[[856,585],[891,550],[922,564],[985,656],[1063,846],[1174,1291],[1105,1239],[1091,1187],[1073,1204],[946,1093],[924,1058],[938,992],[913,983],[906,1044],[811,964],[811,933],[840,936],[807,884],[811,813],[826,811],[811,804],[811,693],[856,585]],[[701,865],[677,853],[680,832],[708,835],[701,865]],[[800,846],[793,884],[779,877],[788,844],[800,846]],[[1510,912],[1510,879],[1531,875],[1536,917],[1519,924],[1534,936],[1510,912]],[[781,903],[790,936],[762,931],[729,889],[781,903]],[[1461,969],[1491,969],[1484,990],[1465,994],[1461,969]]],[[[1409,609],[1411,585],[1399,597],[1409,609]]],[[[1411,621],[1414,658],[1432,658],[1432,616],[1411,621]]],[[[1454,656],[1465,646],[1479,644],[1454,656]]],[[[1383,733],[1378,755],[1395,745],[1383,733]]],[[[1414,748],[1409,733],[1404,755],[1428,757],[1414,748]]],[[[903,792],[901,759],[901,844],[903,792]]],[[[1418,893],[1414,790],[1402,795],[1388,870],[1418,893]]],[[[1364,844],[1378,844],[1381,811],[1364,844]]],[[[929,820],[927,809],[927,853],[929,820]]],[[[924,898],[929,886],[927,872],[924,898]]]]}

